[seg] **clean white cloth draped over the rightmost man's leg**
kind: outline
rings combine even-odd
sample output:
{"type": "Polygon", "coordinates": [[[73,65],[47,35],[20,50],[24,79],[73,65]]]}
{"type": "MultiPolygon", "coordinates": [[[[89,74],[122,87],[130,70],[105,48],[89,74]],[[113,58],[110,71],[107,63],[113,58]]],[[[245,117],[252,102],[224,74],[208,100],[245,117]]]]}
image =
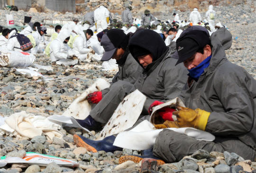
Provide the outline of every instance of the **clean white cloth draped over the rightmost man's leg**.
{"type": "MultiPolygon", "coordinates": [[[[186,134],[197,140],[213,141],[215,137],[209,132],[197,130],[194,128],[168,128],[179,133],[186,134]]],[[[133,150],[145,150],[154,147],[157,135],[163,129],[155,130],[155,126],[149,121],[144,120],[135,128],[129,131],[123,131],[115,139],[114,146],[128,148],[133,150]]]]}

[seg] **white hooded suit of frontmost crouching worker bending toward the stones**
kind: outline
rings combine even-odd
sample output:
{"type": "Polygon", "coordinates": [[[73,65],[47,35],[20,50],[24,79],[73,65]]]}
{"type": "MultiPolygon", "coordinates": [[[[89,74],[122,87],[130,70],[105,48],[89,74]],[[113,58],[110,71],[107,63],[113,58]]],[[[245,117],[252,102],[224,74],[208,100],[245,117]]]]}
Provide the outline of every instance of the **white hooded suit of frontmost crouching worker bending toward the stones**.
{"type": "Polygon", "coordinates": [[[63,43],[70,33],[67,30],[61,30],[58,37],[51,42],[50,45],[50,57],[51,62],[55,62],[58,65],[64,64],[65,66],[75,65],[78,63],[78,59],[73,60],[71,58],[74,53],[67,43],[63,43]]]}

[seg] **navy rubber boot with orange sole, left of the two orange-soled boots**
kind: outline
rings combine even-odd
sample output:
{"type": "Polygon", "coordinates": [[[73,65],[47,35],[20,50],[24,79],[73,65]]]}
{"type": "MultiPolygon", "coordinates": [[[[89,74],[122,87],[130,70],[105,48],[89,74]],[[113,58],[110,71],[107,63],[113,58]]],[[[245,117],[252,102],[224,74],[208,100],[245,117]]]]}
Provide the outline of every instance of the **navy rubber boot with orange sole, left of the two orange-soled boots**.
{"type": "Polygon", "coordinates": [[[116,137],[113,135],[106,137],[103,140],[91,140],[81,135],[74,135],[73,139],[77,147],[85,147],[88,151],[92,151],[93,153],[102,150],[111,153],[114,153],[114,151],[123,150],[123,148],[113,146],[116,139],[116,137]]]}

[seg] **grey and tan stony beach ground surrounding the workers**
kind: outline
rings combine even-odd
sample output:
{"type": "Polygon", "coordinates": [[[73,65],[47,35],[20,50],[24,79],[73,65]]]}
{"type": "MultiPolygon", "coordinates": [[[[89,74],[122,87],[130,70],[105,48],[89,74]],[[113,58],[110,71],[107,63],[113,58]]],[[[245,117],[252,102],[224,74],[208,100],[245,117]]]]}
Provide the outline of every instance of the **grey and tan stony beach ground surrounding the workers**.
{"type": "MultiPolygon", "coordinates": [[[[168,5],[168,3],[174,5],[174,2],[171,3],[170,0],[128,0],[123,1],[123,3],[119,2],[120,0],[106,1],[94,2],[90,0],[76,4],[77,9],[81,10],[77,13],[67,12],[63,14],[47,9],[45,12],[34,12],[34,9],[31,9],[31,12],[0,10],[0,25],[6,25],[5,14],[13,14],[14,21],[17,23],[23,22],[24,16],[32,17],[31,22],[42,22],[44,19],[69,20],[73,17],[83,21],[83,15],[87,12],[84,10],[91,11],[93,8],[96,9],[96,6],[101,5],[101,3],[107,3],[110,11],[114,12],[112,17],[117,18],[118,21],[121,21],[119,12],[121,8],[117,3],[123,7],[127,3],[134,6],[134,18],[141,18],[142,11],[151,3],[156,3],[155,7],[162,9],[160,11],[152,9],[152,14],[161,21],[172,21],[173,12],[178,13],[182,20],[188,19],[191,12],[188,5],[168,5]],[[157,6],[157,3],[163,4],[162,6],[157,6]]],[[[218,0],[213,0],[212,2],[202,1],[198,7],[202,18],[205,16],[206,9],[213,2],[216,4],[214,10],[217,13],[215,24],[220,22],[221,25],[229,29],[233,36],[232,46],[226,51],[228,60],[246,69],[256,79],[256,11],[254,9],[256,1],[240,2],[239,0],[234,0],[230,3],[228,3],[228,0],[225,2],[219,2],[218,0]]],[[[34,4],[33,7],[38,9],[39,5],[34,4]]],[[[47,36],[45,38],[47,41],[50,39],[47,36]]],[[[82,62],[82,66],[66,67],[51,63],[50,58],[45,54],[35,54],[35,56],[36,60],[30,68],[38,69],[38,72],[43,76],[32,76],[30,73],[22,74],[17,70],[26,68],[0,68],[0,115],[2,117],[9,117],[22,111],[46,118],[51,115],[62,115],[69,105],[94,81],[98,78],[103,78],[111,82],[117,73],[115,70],[104,70],[101,66],[102,62],[82,62]],[[39,69],[35,64],[50,66],[51,69],[39,69]]],[[[177,163],[160,166],[156,164],[155,160],[139,163],[128,161],[119,164],[121,156],[137,155],[141,151],[123,149],[123,151],[114,153],[106,153],[105,151],[91,153],[84,147],[77,147],[74,143],[73,135],[78,134],[86,138],[95,139],[100,131],[91,131],[94,137],[79,128],[64,127],[59,131],[63,134],[64,140],[55,137],[53,140],[49,140],[45,135],[26,138],[0,134],[0,156],[23,158],[26,152],[36,152],[76,161],[80,164],[79,167],[70,168],[59,166],[55,163],[47,166],[7,164],[0,168],[0,173],[229,173],[231,165],[241,165],[244,171],[256,172],[256,162],[253,162],[253,160],[244,160],[235,153],[208,153],[205,150],[198,150],[192,156],[186,156],[177,163]]]]}

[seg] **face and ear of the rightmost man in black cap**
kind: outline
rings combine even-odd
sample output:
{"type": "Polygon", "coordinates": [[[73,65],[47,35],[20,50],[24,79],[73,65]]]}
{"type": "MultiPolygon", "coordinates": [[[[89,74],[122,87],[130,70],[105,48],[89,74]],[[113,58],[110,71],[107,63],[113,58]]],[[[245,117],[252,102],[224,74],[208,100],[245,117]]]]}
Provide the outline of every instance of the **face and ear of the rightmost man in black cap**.
{"type": "Polygon", "coordinates": [[[209,45],[204,47],[204,53],[195,52],[189,59],[183,61],[184,66],[187,69],[193,69],[197,67],[202,61],[204,61],[211,54],[211,49],[209,45]]]}

